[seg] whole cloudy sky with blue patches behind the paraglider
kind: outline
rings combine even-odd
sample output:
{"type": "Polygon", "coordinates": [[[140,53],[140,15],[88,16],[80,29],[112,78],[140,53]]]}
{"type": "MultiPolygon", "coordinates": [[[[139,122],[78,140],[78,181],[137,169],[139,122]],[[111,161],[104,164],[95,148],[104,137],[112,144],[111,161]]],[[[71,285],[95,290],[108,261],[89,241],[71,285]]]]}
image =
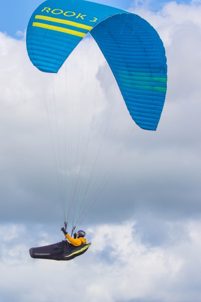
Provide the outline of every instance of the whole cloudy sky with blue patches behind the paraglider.
{"type": "Polygon", "coordinates": [[[168,65],[161,119],[155,132],[135,125],[89,36],[55,77],[41,74],[25,41],[40,1],[1,4],[0,300],[63,302],[81,294],[84,302],[199,302],[201,1],[97,2],[136,13],[158,31],[168,65]],[[31,247],[63,239],[51,145],[57,130],[49,129],[47,105],[53,126],[56,100],[63,150],[65,94],[73,101],[66,130],[72,166],[96,103],[86,157],[87,171],[95,163],[88,200],[96,202],[79,225],[92,244],[69,262],[36,260],[31,247]]]}

